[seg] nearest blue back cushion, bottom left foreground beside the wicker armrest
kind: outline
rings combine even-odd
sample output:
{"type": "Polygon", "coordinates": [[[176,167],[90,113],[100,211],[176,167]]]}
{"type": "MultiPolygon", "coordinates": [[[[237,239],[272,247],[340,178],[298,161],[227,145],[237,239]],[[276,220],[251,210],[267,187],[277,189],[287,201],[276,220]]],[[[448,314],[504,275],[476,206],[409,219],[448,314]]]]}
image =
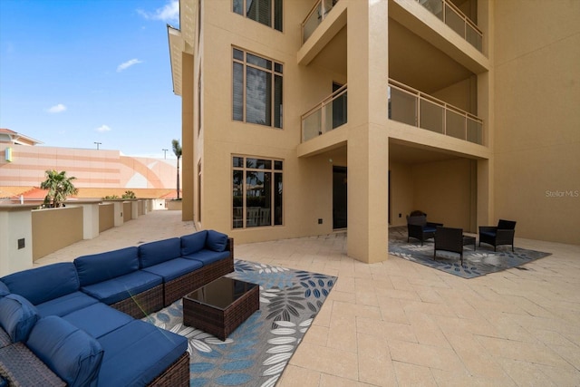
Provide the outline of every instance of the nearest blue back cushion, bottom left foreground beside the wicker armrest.
{"type": "Polygon", "coordinates": [[[99,375],[101,344],[61,317],[38,320],[26,346],[71,387],[91,385],[99,375]]]}

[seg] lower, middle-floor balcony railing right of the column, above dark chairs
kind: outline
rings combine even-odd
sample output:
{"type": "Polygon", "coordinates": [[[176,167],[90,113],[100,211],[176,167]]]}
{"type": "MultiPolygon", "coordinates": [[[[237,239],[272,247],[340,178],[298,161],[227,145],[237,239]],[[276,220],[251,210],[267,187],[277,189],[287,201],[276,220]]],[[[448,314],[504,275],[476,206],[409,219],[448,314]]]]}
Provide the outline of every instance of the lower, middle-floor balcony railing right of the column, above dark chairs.
{"type": "Polygon", "coordinates": [[[483,145],[483,120],[394,80],[389,80],[389,119],[483,145]]]}

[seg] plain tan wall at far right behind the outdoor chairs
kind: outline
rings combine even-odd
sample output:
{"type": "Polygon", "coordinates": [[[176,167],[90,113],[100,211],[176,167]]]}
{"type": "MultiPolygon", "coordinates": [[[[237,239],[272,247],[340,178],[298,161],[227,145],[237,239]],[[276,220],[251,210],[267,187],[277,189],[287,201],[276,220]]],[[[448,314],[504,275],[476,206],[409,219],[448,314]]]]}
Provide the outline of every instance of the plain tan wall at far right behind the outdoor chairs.
{"type": "Polygon", "coordinates": [[[494,220],[517,220],[517,237],[578,244],[580,2],[495,8],[494,220]]]}

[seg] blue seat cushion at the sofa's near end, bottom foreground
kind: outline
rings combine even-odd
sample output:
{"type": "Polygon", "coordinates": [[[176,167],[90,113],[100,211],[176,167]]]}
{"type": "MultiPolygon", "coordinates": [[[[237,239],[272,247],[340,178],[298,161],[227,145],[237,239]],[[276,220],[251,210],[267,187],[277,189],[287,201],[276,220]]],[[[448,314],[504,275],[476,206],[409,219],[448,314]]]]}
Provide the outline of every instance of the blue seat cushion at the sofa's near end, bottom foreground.
{"type": "Polygon", "coordinates": [[[105,355],[100,386],[146,385],[179,359],[188,340],[155,325],[134,320],[99,339],[105,355]]]}

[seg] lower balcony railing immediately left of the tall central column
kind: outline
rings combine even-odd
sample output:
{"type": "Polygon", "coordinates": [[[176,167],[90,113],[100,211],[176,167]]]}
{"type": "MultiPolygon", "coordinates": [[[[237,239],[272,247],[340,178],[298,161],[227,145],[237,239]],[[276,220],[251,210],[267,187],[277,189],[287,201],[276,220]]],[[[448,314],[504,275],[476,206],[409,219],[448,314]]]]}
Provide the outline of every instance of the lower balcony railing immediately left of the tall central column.
{"type": "Polygon", "coordinates": [[[346,84],[302,116],[302,142],[321,136],[347,122],[346,84]]]}

